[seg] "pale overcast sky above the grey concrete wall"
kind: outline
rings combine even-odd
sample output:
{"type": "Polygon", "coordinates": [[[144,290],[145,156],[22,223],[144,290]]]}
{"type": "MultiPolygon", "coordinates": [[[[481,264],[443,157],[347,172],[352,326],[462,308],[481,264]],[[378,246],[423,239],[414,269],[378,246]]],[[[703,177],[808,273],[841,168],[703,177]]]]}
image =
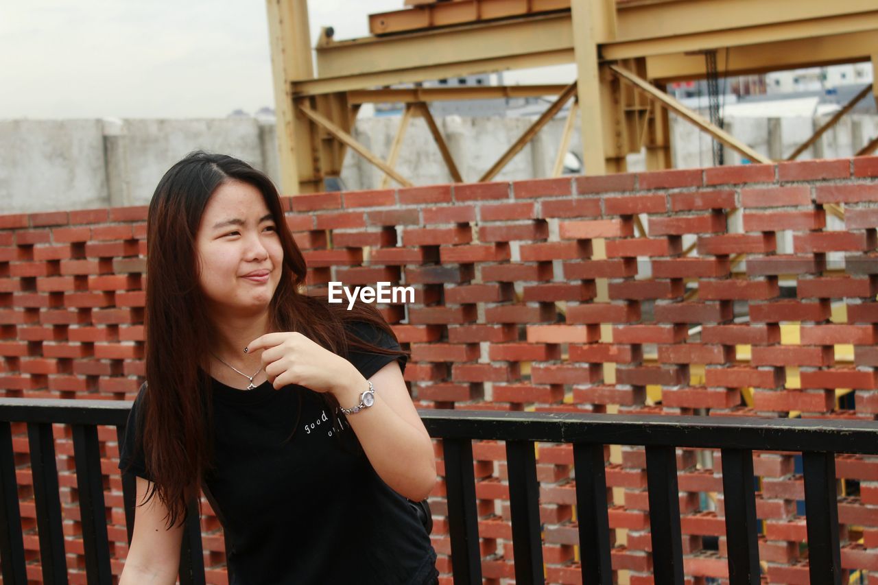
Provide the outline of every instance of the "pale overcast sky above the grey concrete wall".
{"type": "MultiPolygon", "coordinates": [[[[312,40],[323,25],[336,39],[366,36],[368,14],[403,8],[308,4],[312,40]]],[[[274,107],[260,0],[0,0],[0,54],[0,119],[216,118],[274,107]]],[[[545,73],[524,83],[572,78],[545,73]]]]}

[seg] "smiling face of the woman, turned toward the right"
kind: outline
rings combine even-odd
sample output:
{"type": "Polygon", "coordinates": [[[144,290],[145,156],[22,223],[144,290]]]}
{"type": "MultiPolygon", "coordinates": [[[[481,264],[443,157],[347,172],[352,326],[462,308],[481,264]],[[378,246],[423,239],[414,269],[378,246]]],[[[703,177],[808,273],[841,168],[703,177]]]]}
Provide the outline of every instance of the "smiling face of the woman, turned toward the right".
{"type": "Polygon", "coordinates": [[[255,314],[268,307],[284,250],[262,193],[228,180],[213,191],[196,237],[198,281],[214,314],[255,314]]]}

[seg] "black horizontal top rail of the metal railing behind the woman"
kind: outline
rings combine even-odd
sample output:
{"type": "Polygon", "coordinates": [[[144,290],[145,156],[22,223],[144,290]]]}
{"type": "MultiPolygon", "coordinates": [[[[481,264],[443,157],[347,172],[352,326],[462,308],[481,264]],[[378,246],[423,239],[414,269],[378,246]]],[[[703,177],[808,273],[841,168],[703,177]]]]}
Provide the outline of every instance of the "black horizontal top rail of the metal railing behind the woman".
{"type": "MultiPolygon", "coordinates": [[[[0,398],[0,421],[126,423],[131,401],[0,398]]],[[[878,455],[878,421],[421,409],[430,435],[878,455]]]]}

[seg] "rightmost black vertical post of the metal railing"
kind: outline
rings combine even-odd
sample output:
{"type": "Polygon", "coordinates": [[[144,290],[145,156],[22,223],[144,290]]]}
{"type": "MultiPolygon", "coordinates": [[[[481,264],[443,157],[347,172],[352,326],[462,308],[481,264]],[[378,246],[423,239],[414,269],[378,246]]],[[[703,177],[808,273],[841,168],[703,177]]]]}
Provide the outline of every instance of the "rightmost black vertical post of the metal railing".
{"type": "Polygon", "coordinates": [[[835,453],[805,451],[802,453],[802,463],[811,582],[840,585],[842,570],[838,548],[835,453]]]}

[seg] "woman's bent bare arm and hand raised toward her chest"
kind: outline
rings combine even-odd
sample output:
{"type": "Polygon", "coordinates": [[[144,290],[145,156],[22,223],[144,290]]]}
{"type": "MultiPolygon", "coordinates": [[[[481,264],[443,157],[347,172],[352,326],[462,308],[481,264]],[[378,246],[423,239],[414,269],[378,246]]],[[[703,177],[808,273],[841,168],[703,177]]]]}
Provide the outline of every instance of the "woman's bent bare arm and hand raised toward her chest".
{"type": "MultiPolygon", "coordinates": [[[[298,384],[335,394],[343,408],[360,403],[369,383],[347,359],[298,333],[268,333],[249,343],[263,350],[265,373],[275,388],[298,384]]],[[[433,442],[408,395],[399,363],[393,360],[370,378],[375,402],[347,420],[366,457],[399,495],[419,501],[436,482],[433,442]]]]}

